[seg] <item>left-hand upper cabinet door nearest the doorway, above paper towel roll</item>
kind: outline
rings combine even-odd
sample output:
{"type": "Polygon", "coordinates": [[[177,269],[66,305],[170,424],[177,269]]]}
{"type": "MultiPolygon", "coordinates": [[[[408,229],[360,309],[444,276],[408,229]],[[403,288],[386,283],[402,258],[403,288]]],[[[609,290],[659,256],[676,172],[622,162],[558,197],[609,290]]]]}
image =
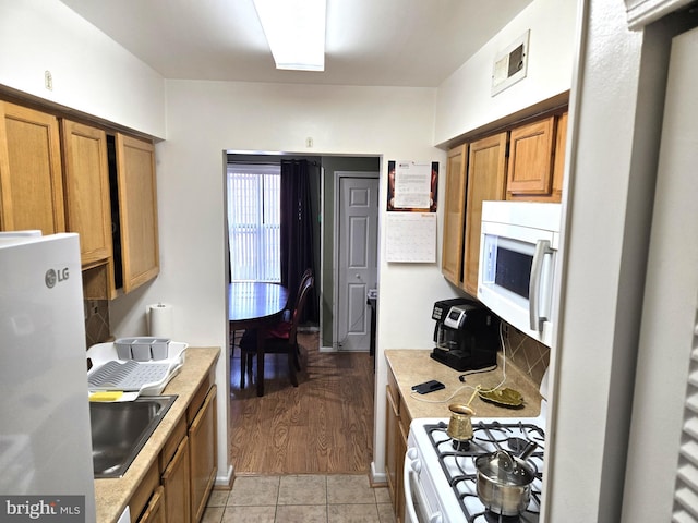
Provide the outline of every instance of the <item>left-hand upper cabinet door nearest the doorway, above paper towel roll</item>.
{"type": "Polygon", "coordinates": [[[159,272],[155,148],[151,142],[117,134],[117,178],[123,292],[159,272]]]}

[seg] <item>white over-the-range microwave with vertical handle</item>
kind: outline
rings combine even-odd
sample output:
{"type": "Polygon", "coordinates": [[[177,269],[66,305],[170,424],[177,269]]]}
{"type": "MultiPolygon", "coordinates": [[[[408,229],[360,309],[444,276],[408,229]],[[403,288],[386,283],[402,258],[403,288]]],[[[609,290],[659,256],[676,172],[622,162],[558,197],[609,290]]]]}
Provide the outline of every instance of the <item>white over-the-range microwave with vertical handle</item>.
{"type": "Polygon", "coordinates": [[[552,343],[561,204],[483,202],[478,299],[524,333],[552,343]]]}

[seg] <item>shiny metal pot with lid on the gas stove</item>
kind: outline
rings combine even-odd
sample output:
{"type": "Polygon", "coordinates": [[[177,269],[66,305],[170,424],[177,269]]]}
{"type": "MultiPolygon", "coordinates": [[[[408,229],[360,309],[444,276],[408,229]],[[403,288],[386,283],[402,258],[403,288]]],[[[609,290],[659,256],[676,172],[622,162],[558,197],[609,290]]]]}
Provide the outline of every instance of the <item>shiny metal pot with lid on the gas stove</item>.
{"type": "Polygon", "coordinates": [[[526,510],[535,479],[535,469],[526,460],[537,447],[531,441],[519,457],[496,450],[476,458],[477,492],[486,509],[501,515],[518,515],[526,510]]]}

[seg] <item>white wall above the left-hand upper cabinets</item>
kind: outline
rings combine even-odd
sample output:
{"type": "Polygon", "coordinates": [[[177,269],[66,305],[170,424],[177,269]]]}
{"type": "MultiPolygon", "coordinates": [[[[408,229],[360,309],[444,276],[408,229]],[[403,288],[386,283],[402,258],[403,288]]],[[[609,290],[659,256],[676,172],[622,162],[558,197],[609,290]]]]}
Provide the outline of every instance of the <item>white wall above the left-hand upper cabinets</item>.
{"type": "Polygon", "coordinates": [[[163,77],[58,0],[0,0],[0,86],[165,136],[163,77]]]}

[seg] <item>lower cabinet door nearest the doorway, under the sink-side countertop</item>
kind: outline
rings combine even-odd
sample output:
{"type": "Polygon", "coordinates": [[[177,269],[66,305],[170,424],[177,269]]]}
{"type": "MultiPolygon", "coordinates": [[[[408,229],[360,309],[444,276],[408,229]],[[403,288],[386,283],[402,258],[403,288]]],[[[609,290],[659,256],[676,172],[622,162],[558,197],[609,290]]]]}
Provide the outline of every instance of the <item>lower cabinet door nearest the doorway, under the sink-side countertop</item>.
{"type": "Polygon", "coordinates": [[[216,386],[189,427],[191,465],[191,521],[197,523],[216,478],[216,386]]]}

